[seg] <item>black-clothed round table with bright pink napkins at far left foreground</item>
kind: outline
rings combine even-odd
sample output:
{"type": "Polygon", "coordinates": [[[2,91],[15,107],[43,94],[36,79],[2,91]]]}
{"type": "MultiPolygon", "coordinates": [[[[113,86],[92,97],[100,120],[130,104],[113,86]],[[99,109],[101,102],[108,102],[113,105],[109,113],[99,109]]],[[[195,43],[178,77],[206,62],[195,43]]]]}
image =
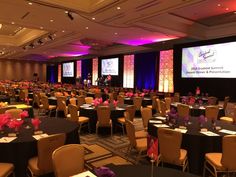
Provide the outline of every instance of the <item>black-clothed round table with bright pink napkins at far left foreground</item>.
{"type": "MultiPolygon", "coordinates": [[[[78,134],[78,124],[64,119],[42,118],[40,130],[48,135],[65,133],[65,144],[80,143],[78,134]]],[[[5,134],[0,134],[0,138],[7,136],[9,129],[5,130],[5,134]]],[[[26,119],[25,123],[19,130],[19,134],[15,140],[10,143],[0,143],[0,162],[10,162],[15,166],[16,177],[26,177],[28,160],[37,156],[37,140],[33,135],[32,124],[30,119],[26,119]],[[29,125],[30,128],[25,127],[29,125]]]]}

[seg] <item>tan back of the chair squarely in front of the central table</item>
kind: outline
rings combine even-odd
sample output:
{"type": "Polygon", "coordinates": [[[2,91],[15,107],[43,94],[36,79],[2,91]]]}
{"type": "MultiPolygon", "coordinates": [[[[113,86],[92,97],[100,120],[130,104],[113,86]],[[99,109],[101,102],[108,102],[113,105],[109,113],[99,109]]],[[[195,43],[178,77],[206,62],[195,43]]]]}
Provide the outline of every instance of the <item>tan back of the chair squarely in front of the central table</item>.
{"type": "Polygon", "coordinates": [[[98,106],[97,116],[99,121],[99,126],[107,126],[110,124],[111,109],[108,106],[98,106]]]}

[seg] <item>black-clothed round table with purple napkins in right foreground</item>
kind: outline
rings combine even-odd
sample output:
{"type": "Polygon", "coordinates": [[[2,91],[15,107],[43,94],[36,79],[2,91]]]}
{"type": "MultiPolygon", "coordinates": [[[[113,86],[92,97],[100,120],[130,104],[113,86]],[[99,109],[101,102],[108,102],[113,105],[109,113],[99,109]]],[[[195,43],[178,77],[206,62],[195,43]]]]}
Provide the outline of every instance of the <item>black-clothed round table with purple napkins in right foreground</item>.
{"type": "MultiPolygon", "coordinates": [[[[153,120],[153,119],[151,119],[153,120]]],[[[157,119],[155,119],[157,120],[157,119]]],[[[150,121],[150,120],[149,120],[150,121]]],[[[157,137],[157,127],[155,123],[148,124],[148,132],[151,136],[157,137]]],[[[183,121],[178,121],[175,125],[170,125],[170,128],[177,128],[184,125],[183,121]]],[[[236,126],[225,123],[223,121],[216,121],[216,127],[221,129],[236,131],[236,126]]],[[[222,137],[227,135],[216,130],[211,122],[203,124],[202,128],[207,128],[219,136],[206,136],[200,133],[200,125],[198,117],[190,117],[190,124],[187,125],[187,132],[183,133],[181,148],[188,151],[188,161],[190,172],[194,174],[202,174],[205,153],[208,152],[222,152],[222,137]]]]}

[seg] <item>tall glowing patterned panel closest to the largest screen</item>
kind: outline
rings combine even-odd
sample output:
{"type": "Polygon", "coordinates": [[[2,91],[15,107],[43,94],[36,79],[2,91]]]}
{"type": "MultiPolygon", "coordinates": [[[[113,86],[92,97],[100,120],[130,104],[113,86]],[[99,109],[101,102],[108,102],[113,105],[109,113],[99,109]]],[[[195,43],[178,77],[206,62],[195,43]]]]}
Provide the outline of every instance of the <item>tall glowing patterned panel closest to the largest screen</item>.
{"type": "Polygon", "coordinates": [[[174,92],[173,50],[160,52],[159,92],[174,92]]]}

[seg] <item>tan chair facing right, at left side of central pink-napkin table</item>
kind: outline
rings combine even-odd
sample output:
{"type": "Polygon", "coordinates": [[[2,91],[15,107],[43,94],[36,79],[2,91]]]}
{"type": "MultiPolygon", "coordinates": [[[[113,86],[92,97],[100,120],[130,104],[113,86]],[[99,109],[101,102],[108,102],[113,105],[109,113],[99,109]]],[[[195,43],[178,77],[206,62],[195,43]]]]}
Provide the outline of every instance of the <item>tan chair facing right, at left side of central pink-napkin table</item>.
{"type": "Polygon", "coordinates": [[[81,128],[84,127],[86,124],[87,124],[88,130],[90,132],[89,118],[84,117],[84,116],[79,116],[78,107],[76,105],[69,104],[68,111],[69,111],[69,114],[67,115],[67,120],[78,123],[79,124],[79,132],[80,132],[81,128]]]}

